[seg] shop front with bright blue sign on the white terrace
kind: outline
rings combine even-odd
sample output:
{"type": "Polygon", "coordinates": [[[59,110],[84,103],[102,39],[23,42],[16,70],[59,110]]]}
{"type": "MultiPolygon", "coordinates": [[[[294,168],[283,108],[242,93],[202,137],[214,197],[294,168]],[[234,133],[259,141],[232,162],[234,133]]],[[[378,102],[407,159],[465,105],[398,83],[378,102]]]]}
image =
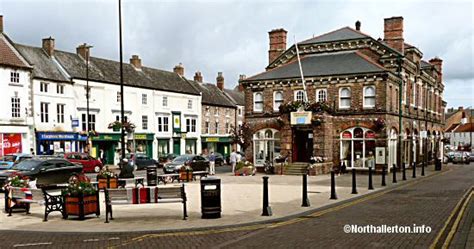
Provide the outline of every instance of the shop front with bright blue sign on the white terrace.
{"type": "Polygon", "coordinates": [[[87,140],[76,132],[36,132],[36,154],[78,152],[80,143],[87,140]]]}

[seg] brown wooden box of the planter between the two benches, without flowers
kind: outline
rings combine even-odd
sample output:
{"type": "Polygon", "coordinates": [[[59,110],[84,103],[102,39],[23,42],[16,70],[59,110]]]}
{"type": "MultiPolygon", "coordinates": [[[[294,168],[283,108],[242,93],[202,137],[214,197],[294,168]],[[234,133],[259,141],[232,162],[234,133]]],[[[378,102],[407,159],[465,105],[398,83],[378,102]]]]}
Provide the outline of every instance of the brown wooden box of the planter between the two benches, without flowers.
{"type": "Polygon", "coordinates": [[[66,196],[66,214],[78,216],[80,220],[89,214],[100,215],[99,192],[94,195],[66,196]]]}

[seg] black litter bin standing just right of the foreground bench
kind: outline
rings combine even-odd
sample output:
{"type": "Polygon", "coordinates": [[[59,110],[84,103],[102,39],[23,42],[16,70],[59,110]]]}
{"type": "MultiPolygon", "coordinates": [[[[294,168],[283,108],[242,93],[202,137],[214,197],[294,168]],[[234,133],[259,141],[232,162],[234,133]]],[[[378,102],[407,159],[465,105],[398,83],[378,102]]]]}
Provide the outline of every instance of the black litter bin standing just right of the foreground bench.
{"type": "Polygon", "coordinates": [[[201,218],[221,217],[221,179],[206,177],[201,179],[201,218]]]}

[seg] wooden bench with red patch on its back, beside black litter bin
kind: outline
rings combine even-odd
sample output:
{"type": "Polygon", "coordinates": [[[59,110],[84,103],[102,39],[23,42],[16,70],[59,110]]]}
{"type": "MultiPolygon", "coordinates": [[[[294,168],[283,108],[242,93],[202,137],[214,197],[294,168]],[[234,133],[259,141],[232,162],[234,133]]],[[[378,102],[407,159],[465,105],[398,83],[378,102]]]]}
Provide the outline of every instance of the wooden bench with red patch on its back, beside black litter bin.
{"type": "Polygon", "coordinates": [[[105,193],[105,223],[113,220],[113,205],[141,205],[160,203],[183,203],[183,220],[188,217],[184,184],[166,187],[107,189],[105,193]]]}

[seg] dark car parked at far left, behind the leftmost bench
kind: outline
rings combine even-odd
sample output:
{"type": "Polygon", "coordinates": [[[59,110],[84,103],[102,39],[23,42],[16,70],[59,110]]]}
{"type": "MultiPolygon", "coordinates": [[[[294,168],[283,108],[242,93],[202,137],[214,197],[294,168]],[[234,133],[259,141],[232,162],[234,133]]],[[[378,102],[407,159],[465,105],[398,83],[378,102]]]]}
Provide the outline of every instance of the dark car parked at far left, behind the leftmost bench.
{"type": "Polygon", "coordinates": [[[19,174],[36,179],[37,185],[49,185],[67,183],[69,177],[74,173],[81,173],[82,165],[71,163],[59,158],[33,158],[24,160],[10,170],[0,171],[0,188],[12,175],[19,174]]]}

